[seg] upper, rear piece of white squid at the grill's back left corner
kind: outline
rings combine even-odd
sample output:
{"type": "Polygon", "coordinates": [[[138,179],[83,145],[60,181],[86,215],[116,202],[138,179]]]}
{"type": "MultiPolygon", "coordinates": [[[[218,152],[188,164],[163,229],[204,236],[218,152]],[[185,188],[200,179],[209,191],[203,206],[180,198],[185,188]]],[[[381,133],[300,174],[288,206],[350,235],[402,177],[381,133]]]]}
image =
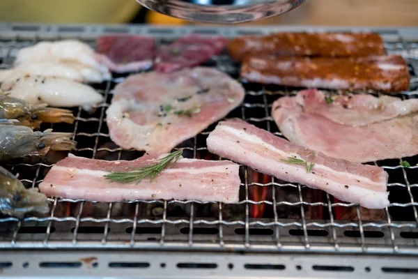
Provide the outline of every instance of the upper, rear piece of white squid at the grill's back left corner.
{"type": "MultiPolygon", "coordinates": [[[[15,66],[29,74],[42,76],[57,76],[52,71],[57,68],[57,73],[70,77],[68,71],[81,72],[84,80],[102,82],[109,80],[111,75],[107,66],[102,63],[102,56],[96,54],[93,49],[78,40],[60,40],[57,42],[40,42],[31,47],[22,48],[16,56],[15,66]],[[47,68],[43,63],[47,63],[47,68]],[[66,68],[64,70],[62,67],[66,68]],[[31,68],[29,71],[28,68],[31,68]],[[45,69],[49,72],[45,73],[45,69]],[[34,73],[37,72],[37,73],[34,73]]],[[[74,74],[71,74],[74,75],[74,74]]],[[[80,81],[77,79],[77,81],[80,81]]]]}

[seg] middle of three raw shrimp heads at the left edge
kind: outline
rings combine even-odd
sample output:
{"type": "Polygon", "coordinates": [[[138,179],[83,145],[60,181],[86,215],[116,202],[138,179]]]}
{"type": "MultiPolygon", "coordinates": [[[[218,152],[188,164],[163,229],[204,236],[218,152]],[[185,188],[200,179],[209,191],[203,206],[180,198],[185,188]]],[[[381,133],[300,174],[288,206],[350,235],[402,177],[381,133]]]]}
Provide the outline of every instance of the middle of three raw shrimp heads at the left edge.
{"type": "Polygon", "coordinates": [[[76,142],[70,137],[72,133],[52,133],[52,129],[33,132],[29,127],[13,125],[12,121],[0,121],[0,161],[74,149],[76,142]]]}

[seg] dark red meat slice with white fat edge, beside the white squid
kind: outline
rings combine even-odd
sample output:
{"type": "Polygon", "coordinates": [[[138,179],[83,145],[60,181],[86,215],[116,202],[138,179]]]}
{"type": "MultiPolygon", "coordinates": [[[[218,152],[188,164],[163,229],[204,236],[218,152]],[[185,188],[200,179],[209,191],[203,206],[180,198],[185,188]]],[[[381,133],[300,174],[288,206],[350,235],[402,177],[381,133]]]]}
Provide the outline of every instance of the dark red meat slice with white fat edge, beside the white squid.
{"type": "Polygon", "coordinates": [[[97,41],[97,52],[105,56],[103,63],[116,73],[150,68],[154,47],[154,38],[137,35],[101,36],[97,41]]]}

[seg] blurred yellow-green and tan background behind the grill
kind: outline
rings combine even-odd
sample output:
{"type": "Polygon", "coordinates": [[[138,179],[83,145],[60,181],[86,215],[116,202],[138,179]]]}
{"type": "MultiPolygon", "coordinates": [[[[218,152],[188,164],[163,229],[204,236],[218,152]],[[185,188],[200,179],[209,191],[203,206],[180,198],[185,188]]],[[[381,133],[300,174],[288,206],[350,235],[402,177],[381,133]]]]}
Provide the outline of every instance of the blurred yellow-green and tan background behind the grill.
{"type": "MultiPolygon", "coordinates": [[[[418,0],[308,0],[285,15],[249,24],[417,26],[417,10],[418,0]]],[[[191,24],[134,0],[0,0],[0,21],[191,24]]]]}

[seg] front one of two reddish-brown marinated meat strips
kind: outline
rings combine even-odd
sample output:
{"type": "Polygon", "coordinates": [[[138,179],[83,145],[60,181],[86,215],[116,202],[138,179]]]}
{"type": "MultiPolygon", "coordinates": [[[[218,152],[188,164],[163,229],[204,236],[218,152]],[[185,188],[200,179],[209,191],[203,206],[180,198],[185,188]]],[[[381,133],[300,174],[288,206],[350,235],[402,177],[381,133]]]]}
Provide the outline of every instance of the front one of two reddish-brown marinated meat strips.
{"type": "Polygon", "coordinates": [[[410,82],[408,66],[396,55],[339,59],[248,56],[241,77],[265,84],[387,92],[408,90],[410,82]]]}

